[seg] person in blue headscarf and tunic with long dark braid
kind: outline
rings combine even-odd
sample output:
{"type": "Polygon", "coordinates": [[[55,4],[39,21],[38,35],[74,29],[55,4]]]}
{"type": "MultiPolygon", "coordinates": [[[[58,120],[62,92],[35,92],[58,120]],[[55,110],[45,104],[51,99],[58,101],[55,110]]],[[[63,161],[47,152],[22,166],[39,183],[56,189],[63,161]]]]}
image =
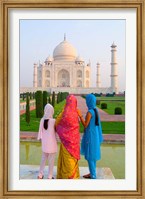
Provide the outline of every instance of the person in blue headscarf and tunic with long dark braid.
{"type": "Polygon", "coordinates": [[[98,110],[96,108],[96,97],[93,94],[86,96],[88,112],[84,120],[81,112],[78,110],[80,120],[85,127],[81,143],[81,154],[88,161],[90,173],[84,175],[84,178],[96,179],[96,163],[101,159],[101,143],[103,142],[102,128],[98,110]]]}

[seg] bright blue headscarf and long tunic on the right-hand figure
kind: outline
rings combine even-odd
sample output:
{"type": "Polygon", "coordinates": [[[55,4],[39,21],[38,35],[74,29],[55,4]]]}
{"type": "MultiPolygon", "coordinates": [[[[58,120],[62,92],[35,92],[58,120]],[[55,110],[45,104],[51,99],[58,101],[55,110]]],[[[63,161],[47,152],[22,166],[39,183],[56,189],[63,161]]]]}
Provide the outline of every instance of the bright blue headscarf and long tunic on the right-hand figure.
{"type": "Polygon", "coordinates": [[[96,97],[92,94],[86,96],[86,104],[88,106],[88,112],[91,114],[91,120],[87,128],[85,129],[82,143],[81,143],[81,154],[85,156],[86,160],[100,160],[101,149],[100,145],[103,142],[102,128],[98,110],[98,123],[99,126],[95,125],[95,111],[96,108],[96,97]]]}

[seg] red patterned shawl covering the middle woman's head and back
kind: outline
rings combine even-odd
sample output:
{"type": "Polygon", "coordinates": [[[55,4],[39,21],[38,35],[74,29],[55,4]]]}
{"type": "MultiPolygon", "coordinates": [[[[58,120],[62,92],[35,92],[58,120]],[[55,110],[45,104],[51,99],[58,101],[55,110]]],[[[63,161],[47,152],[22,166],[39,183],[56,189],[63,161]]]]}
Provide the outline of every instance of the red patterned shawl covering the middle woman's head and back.
{"type": "Polygon", "coordinates": [[[67,151],[76,159],[80,159],[80,133],[77,113],[77,100],[69,95],[62,118],[56,127],[56,131],[67,151]]]}

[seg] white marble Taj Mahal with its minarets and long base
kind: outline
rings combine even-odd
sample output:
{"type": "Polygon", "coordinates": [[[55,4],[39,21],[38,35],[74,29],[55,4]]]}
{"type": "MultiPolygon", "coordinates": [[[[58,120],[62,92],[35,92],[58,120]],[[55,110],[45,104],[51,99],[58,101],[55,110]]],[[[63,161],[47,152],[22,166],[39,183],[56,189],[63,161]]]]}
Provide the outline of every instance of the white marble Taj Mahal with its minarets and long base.
{"type": "MultiPolygon", "coordinates": [[[[33,88],[20,88],[20,92],[69,92],[72,94],[118,93],[117,46],[111,45],[111,83],[109,87],[101,87],[100,63],[96,64],[96,87],[91,86],[91,62],[85,63],[77,50],[67,41],[66,36],[48,56],[44,63],[34,63],[33,88]]],[[[93,66],[94,67],[94,66],[93,66]]]]}

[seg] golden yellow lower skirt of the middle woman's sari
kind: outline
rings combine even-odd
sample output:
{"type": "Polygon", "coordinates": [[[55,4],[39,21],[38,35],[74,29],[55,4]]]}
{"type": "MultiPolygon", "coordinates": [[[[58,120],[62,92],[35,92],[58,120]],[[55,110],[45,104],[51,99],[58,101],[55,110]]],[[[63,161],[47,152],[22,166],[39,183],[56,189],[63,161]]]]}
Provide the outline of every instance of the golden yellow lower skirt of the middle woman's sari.
{"type": "Polygon", "coordinates": [[[78,160],[61,143],[57,163],[57,179],[80,178],[78,160]]]}

